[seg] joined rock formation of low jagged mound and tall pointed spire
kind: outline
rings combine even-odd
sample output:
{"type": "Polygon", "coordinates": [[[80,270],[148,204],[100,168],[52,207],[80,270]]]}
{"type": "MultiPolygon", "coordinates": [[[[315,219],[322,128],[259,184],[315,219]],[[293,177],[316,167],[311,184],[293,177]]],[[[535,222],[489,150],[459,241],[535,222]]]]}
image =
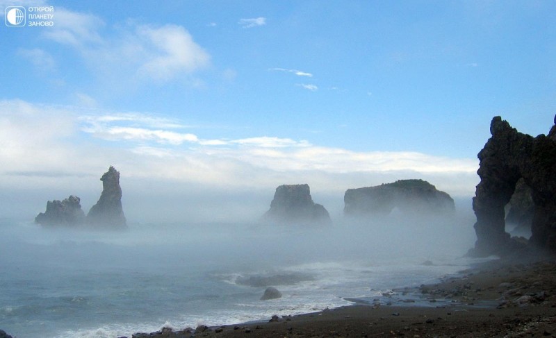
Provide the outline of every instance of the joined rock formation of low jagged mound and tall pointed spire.
{"type": "Polygon", "coordinates": [[[111,166],[101,177],[101,181],[103,189],[99,201],[92,206],[86,217],[81,209],[81,199],[72,195],[63,201],[48,201],[47,210],[35,217],[35,223],[42,226],[125,228],[120,172],[111,166]]]}

